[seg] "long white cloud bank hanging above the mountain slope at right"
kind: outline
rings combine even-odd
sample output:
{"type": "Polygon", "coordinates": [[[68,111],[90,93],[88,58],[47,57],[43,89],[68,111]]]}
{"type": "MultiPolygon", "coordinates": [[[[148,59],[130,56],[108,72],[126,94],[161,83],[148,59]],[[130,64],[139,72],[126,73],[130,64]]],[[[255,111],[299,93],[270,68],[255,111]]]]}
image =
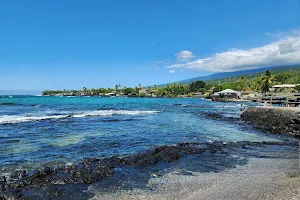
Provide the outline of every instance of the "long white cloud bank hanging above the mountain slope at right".
{"type": "Polygon", "coordinates": [[[226,72],[276,65],[300,64],[300,34],[251,49],[230,49],[167,68],[226,72]]]}

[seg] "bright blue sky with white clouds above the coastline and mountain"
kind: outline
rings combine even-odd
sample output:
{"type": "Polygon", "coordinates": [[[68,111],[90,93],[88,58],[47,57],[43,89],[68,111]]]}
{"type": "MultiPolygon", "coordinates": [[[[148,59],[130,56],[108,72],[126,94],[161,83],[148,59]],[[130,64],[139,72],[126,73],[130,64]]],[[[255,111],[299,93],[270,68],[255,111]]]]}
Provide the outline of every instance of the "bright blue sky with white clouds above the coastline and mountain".
{"type": "Polygon", "coordinates": [[[299,0],[1,1],[0,91],[148,86],[300,63],[299,27],[299,0]]]}

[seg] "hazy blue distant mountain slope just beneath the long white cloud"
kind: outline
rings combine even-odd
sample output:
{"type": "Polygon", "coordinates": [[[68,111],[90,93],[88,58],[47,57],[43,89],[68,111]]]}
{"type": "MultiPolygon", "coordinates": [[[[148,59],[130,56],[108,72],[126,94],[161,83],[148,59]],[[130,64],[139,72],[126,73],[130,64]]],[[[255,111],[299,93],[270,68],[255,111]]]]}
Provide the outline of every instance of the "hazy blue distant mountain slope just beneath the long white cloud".
{"type": "MultiPolygon", "coordinates": [[[[243,76],[243,75],[260,73],[260,72],[264,72],[266,70],[288,69],[288,68],[294,68],[294,67],[300,67],[300,65],[263,67],[263,68],[257,68],[257,69],[235,71],[235,72],[221,72],[221,73],[211,74],[209,76],[198,76],[198,77],[191,78],[191,79],[176,81],[175,83],[189,84],[189,83],[197,81],[197,80],[211,81],[211,80],[218,80],[218,79],[229,78],[229,77],[236,77],[236,76],[243,76]]],[[[162,84],[162,85],[159,85],[159,86],[170,85],[170,84],[173,84],[173,83],[162,84]]]]}

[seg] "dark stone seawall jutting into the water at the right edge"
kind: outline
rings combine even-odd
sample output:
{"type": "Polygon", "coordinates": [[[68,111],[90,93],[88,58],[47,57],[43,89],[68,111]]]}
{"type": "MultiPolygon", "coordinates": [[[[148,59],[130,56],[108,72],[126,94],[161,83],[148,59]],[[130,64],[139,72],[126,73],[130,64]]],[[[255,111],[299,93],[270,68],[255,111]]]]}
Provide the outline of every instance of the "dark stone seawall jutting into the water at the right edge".
{"type": "Polygon", "coordinates": [[[271,133],[300,137],[300,108],[249,107],[241,118],[271,133]]]}

